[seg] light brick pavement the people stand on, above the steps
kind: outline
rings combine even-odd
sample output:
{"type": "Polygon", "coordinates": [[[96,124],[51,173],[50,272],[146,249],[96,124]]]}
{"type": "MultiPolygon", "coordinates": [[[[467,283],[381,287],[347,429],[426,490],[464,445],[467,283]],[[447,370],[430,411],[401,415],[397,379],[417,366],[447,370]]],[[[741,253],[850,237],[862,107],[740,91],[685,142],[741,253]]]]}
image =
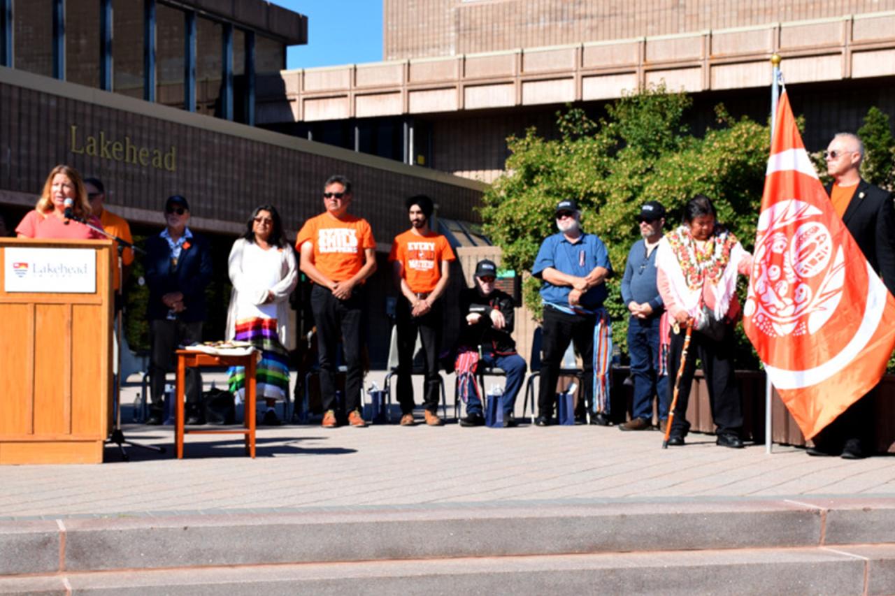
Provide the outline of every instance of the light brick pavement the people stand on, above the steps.
{"type": "MultiPolygon", "coordinates": [[[[211,379],[206,379],[209,382],[211,379]]],[[[219,384],[219,380],[218,380],[219,384]]],[[[132,401],[133,388],[124,396],[132,401]]],[[[521,413],[521,399],[517,410],[521,413]]],[[[452,413],[451,408],[448,411],[452,413]]],[[[0,468],[0,520],[79,515],[171,515],[382,507],[797,498],[895,498],[895,459],[811,458],[796,447],[733,450],[691,434],[661,449],[655,431],[522,426],[465,429],[373,425],[259,427],[258,457],[238,435],[186,438],[173,459],[173,427],[125,425],[121,462],[0,468]]]]}

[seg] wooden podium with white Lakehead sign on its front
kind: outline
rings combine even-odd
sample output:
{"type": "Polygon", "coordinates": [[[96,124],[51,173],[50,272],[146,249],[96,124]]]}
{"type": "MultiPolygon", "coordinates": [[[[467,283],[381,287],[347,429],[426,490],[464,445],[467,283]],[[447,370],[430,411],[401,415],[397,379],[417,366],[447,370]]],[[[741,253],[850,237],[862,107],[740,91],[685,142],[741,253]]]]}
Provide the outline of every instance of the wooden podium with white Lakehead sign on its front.
{"type": "Polygon", "coordinates": [[[0,464],[102,463],[114,257],[107,240],[0,239],[0,464]]]}

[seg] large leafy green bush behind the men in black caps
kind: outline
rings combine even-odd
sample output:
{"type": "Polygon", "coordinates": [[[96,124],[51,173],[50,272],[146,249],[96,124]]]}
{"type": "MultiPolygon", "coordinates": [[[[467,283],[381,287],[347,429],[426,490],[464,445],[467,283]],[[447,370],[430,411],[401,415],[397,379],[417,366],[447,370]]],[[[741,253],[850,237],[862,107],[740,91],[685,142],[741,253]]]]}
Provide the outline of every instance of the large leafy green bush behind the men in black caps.
{"type": "MultiPolygon", "coordinates": [[[[640,237],[635,217],[644,202],[662,202],[668,229],[678,225],[686,201],[703,193],[747,249],[754,243],[769,130],[734,120],[719,106],[716,125],[697,137],[683,121],[690,105],[688,96],[660,87],[618,99],[599,122],[567,109],[557,115],[559,139],[544,140],[529,129],[507,140],[507,172],[483,198],[485,233],[504,251],[506,266],[520,271],[531,268],[541,241],[556,232],[558,200],[578,201],[584,230],[601,237],[615,268],[607,308],[613,339],[623,349],[627,316],[620,282],[627,251],[640,237]]],[[[524,302],[535,313],[539,286],[534,278],[524,283],[524,302]]],[[[741,348],[739,363],[754,365],[751,346],[741,341],[741,348]]]]}

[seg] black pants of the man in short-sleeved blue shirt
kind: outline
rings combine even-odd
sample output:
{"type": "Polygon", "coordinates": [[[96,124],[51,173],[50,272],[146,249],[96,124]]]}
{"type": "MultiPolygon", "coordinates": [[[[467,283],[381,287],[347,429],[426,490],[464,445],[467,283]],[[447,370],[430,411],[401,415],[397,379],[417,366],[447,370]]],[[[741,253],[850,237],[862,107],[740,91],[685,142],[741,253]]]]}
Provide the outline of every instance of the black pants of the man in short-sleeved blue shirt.
{"type": "Polygon", "coordinates": [[[568,314],[544,306],[543,357],[541,358],[541,387],[538,394],[538,414],[553,416],[556,403],[559,369],[569,341],[584,360],[584,401],[593,403],[593,326],[595,315],[568,314]]]}

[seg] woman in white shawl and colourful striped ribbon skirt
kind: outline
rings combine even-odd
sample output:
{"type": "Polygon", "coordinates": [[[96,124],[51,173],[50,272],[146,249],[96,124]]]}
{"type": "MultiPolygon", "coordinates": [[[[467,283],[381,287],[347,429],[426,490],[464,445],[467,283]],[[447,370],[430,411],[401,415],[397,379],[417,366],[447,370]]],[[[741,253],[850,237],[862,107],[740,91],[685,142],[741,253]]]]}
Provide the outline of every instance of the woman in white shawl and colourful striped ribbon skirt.
{"type": "MultiPolygon", "coordinates": [[[[283,224],[272,205],[256,208],[242,238],[230,250],[233,283],[226,316],[226,337],[251,342],[261,351],[255,372],[258,400],[267,403],[262,424],[279,424],[274,406],[289,391],[289,294],[298,284],[298,264],[286,242],[283,224]]],[[[231,367],[230,391],[242,397],[245,370],[231,367]]]]}

